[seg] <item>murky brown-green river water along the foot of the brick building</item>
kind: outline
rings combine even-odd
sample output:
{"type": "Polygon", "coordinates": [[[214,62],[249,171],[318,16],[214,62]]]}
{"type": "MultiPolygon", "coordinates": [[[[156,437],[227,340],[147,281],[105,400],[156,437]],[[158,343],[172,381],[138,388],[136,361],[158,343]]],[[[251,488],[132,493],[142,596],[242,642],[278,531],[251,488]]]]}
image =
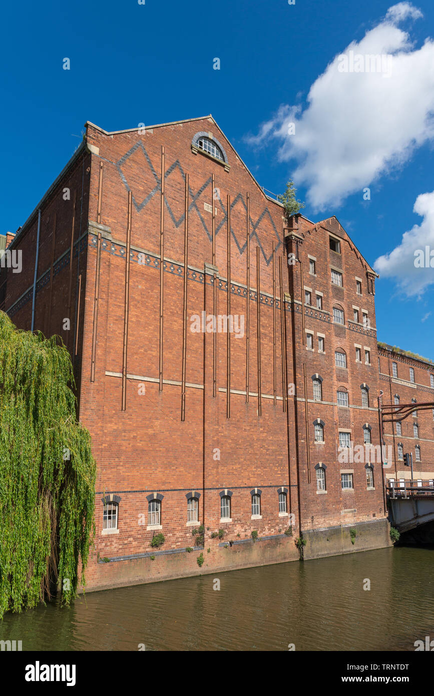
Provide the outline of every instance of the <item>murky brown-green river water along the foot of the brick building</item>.
{"type": "Polygon", "coordinates": [[[414,651],[434,639],[433,568],[434,548],[401,546],[90,592],[69,610],[6,615],[0,640],[23,651],[414,651]]]}

